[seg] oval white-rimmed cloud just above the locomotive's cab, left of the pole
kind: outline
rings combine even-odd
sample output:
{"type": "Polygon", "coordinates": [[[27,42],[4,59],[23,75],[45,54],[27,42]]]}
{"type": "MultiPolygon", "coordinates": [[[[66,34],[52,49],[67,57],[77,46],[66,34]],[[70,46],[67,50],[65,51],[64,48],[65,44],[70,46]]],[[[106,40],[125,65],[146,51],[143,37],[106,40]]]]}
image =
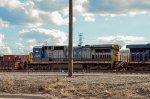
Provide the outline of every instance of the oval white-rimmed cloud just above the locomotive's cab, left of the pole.
{"type": "Polygon", "coordinates": [[[66,41],[66,33],[55,29],[33,28],[29,30],[22,30],[19,32],[20,37],[33,39],[38,41],[49,41],[50,44],[63,44],[66,41]]]}

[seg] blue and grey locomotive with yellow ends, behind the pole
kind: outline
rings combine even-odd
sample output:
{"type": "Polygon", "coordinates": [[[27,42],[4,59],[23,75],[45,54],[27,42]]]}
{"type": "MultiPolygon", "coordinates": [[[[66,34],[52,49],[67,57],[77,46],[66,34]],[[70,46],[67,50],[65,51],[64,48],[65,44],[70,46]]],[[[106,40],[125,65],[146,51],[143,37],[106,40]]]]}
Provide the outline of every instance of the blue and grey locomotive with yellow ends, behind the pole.
{"type": "MultiPolygon", "coordinates": [[[[118,61],[119,45],[85,45],[73,47],[74,71],[112,69],[118,61]]],[[[35,46],[24,69],[68,70],[67,46],[35,46]]]]}

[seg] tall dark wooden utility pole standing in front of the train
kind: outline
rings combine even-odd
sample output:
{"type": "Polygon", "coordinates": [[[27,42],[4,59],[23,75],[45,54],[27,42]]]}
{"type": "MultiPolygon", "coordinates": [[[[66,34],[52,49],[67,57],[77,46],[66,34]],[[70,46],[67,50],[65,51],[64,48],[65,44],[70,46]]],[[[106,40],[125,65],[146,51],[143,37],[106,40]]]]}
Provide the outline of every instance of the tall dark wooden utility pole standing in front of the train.
{"type": "Polygon", "coordinates": [[[73,2],[69,0],[69,64],[68,64],[68,76],[73,75],[73,2]]]}

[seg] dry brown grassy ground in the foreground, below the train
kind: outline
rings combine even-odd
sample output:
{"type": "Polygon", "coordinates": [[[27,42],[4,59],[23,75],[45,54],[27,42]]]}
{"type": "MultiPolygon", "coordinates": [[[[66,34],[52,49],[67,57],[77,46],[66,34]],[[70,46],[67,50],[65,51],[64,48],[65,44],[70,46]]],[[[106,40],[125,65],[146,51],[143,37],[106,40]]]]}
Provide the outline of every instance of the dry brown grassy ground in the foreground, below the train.
{"type": "MultiPolygon", "coordinates": [[[[67,77],[0,73],[1,94],[38,94],[50,99],[149,99],[149,74],[97,73],[67,77]]],[[[43,74],[43,73],[41,73],[43,74]]],[[[45,73],[48,74],[48,73],[45,73]]]]}

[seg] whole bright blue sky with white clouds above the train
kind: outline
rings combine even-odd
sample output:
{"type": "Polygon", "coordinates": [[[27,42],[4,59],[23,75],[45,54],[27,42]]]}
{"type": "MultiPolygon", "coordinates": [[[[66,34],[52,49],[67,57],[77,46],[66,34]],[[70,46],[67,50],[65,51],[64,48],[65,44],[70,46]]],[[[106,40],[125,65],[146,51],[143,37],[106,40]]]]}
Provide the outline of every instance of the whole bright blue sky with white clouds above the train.
{"type": "MultiPolygon", "coordinates": [[[[0,54],[68,44],[69,0],[0,0],[0,54]]],[[[150,43],[150,0],[73,0],[73,44],[150,43]]]]}

